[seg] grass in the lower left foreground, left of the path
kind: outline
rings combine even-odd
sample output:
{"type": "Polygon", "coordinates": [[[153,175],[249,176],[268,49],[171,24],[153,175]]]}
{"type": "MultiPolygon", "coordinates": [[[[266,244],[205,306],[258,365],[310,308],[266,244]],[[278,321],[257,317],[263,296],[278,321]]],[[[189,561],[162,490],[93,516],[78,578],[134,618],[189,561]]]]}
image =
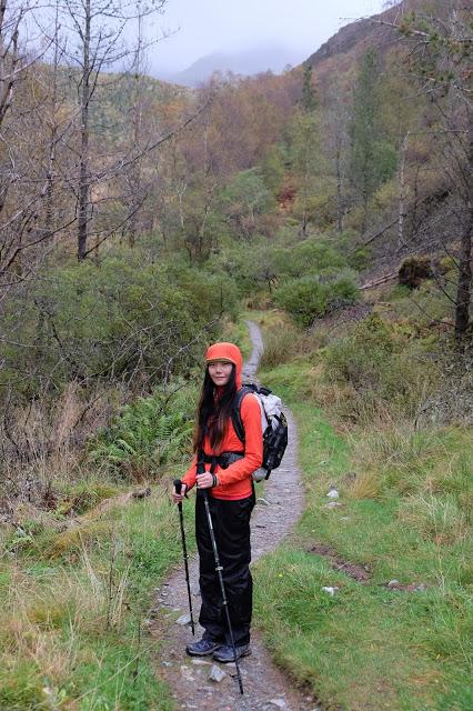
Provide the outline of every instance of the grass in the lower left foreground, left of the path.
{"type": "Polygon", "coordinates": [[[20,548],[11,539],[0,562],[0,709],[171,710],[142,629],[153,587],[181,557],[167,491],[64,531],[39,527],[20,548]]]}

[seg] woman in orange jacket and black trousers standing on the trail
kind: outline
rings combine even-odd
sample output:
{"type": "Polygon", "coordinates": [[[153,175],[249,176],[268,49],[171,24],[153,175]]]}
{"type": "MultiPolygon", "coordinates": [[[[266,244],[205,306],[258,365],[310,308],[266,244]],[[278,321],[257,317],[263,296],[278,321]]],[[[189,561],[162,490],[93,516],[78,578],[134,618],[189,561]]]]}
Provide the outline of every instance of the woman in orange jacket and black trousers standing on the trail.
{"type": "Polygon", "coordinates": [[[241,388],[242,357],[233,343],[214,343],[205,353],[205,377],[198,408],[194,458],[182,478],[182,490],[173,500],[182,501],[194,484],[195,537],[200,559],[202,605],[199,622],[202,639],[191,642],[192,657],[213,654],[219,662],[234,661],[233,648],[222,605],[222,593],[209,533],[203,495],[207,490],[223,582],[233,630],[236,657],[250,654],[252,579],[250,572],[250,515],[254,505],[252,473],[263,458],[261,410],[249,393],[241,403],[245,442],[232,424],[234,398],[241,388]],[[198,473],[198,470],[202,473],[198,473]]]}

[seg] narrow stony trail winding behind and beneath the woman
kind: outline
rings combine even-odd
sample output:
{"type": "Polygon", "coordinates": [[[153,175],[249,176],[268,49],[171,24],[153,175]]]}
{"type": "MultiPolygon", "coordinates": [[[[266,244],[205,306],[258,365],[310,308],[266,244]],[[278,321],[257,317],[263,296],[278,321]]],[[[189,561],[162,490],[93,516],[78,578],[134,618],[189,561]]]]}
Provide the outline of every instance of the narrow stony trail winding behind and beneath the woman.
{"type": "MultiPolygon", "coordinates": [[[[261,331],[253,322],[246,322],[253,343],[253,352],[246,361],[244,380],[254,379],[263,350],[261,331]]],[[[252,557],[274,549],[299,519],[303,508],[303,493],[298,469],[298,440],[291,412],[284,408],[290,427],[290,441],[283,463],[264,487],[264,501],[256,503],[251,520],[252,557]],[[284,504],[284,505],[283,505],[284,504]]],[[[260,490],[261,491],[261,490],[260,490]]],[[[259,498],[262,494],[258,492],[259,498]]],[[[187,502],[187,505],[191,505],[187,502]]],[[[177,523],[178,524],[178,523],[177,523]]],[[[190,565],[192,605],[194,619],[199,617],[200,598],[198,561],[190,565]]],[[[223,681],[209,680],[214,662],[211,659],[193,660],[185,654],[185,644],[192,639],[189,625],[175,623],[180,614],[189,611],[183,569],[175,570],[158,592],[154,602],[154,621],[150,627],[152,637],[162,641],[158,674],[172,689],[178,709],[202,709],[205,711],[312,711],[318,708],[314,699],[300,693],[274,665],[263,647],[261,637],[252,630],[252,654],[240,661],[244,695],[239,692],[234,678],[234,664],[215,664],[227,675],[223,681]]],[[[195,630],[195,639],[201,635],[195,630]]]]}

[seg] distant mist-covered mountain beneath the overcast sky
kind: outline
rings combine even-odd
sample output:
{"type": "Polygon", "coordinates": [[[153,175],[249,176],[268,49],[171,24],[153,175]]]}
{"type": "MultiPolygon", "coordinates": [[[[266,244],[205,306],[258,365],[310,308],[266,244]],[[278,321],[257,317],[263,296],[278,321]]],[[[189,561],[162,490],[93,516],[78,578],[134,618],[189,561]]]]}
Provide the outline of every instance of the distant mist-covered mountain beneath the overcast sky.
{"type": "Polygon", "coordinates": [[[238,53],[214,52],[201,57],[188,69],[175,74],[157,72],[159,79],[177,84],[195,87],[209,79],[213,72],[231,71],[234,74],[251,77],[268,70],[280,73],[288,64],[300,61],[300,56],[286,47],[265,46],[238,53]]]}

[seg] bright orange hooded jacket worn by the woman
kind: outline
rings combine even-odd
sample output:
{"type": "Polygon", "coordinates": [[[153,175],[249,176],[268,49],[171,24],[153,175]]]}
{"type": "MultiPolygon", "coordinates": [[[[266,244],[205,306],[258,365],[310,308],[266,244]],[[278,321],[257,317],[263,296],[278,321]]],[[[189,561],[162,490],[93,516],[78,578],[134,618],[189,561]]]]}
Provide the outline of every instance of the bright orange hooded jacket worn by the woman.
{"type": "MultiPolygon", "coordinates": [[[[233,343],[214,343],[205,353],[207,363],[213,360],[227,360],[235,365],[236,389],[240,389],[243,369],[240,349],[233,343]]],[[[204,439],[203,450],[205,454],[218,455],[220,452],[241,452],[244,450],[244,457],[230,464],[228,469],[217,468],[215,474],[219,479],[219,485],[208,489],[210,495],[215,499],[233,500],[250,497],[252,493],[251,474],[261,467],[263,461],[261,410],[255,395],[250,393],[243,398],[241,419],[244,427],[244,445],[238,438],[230,419],[219,452],[212,450],[208,437],[204,439]]],[[[193,457],[190,468],[182,478],[188,489],[192,489],[195,484],[195,467],[197,455],[193,457]]],[[[205,471],[209,471],[209,469],[210,464],[205,464],[205,471]]]]}

